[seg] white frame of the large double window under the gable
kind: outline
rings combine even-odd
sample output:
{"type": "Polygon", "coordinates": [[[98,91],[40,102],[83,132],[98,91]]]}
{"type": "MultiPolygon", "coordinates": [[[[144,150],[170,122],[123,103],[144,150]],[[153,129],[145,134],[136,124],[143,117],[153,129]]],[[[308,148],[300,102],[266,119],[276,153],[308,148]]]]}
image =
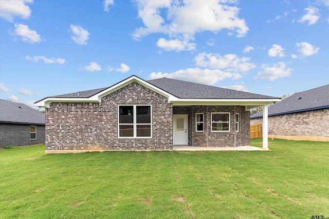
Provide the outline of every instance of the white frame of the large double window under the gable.
{"type": "Polygon", "coordinates": [[[122,105],[118,105],[118,138],[152,138],[152,105],[149,104],[138,104],[138,105],[133,105],[133,104],[122,104],[122,105]],[[133,106],[133,118],[134,121],[133,123],[120,123],[120,106],[133,106]],[[137,106],[149,106],[150,110],[151,110],[151,123],[138,123],[136,121],[136,107],[137,106]],[[120,137],[120,125],[133,125],[133,129],[134,129],[134,136],[122,136],[120,137]],[[150,125],[151,126],[151,136],[137,136],[137,125],[150,125]]]}

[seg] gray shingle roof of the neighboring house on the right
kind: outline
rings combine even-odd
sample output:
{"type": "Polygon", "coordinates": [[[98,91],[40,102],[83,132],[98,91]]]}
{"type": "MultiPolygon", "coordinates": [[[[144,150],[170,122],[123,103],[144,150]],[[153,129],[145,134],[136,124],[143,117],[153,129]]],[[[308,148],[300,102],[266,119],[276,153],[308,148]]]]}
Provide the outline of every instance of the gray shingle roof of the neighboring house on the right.
{"type": "MultiPolygon", "coordinates": [[[[329,108],[329,85],[295,93],[268,107],[268,116],[329,108]]],[[[263,117],[259,111],[250,118],[263,117]]]]}

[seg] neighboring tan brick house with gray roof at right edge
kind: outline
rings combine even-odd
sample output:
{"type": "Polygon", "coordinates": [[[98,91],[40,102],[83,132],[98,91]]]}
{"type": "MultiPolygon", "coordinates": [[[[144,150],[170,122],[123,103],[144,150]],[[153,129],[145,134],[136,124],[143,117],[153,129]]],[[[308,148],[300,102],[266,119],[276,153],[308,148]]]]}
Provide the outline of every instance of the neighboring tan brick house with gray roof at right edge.
{"type": "MultiPolygon", "coordinates": [[[[263,122],[262,112],[251,124],[263,122]]],[[[329,142],[329,85],[295,93],[268,107],[269,137],[329,142]]]]}

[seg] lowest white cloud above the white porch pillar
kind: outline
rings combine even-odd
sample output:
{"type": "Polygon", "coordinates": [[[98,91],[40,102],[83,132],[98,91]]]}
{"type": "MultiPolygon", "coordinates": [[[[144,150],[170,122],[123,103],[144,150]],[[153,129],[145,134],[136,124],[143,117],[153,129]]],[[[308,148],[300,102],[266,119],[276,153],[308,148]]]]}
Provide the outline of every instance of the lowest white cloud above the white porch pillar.
{"type": "Polygon", "coordinates": [[[294,69],[286,68],[284,62],[279,62],[277,64],[269,67],[268,65],[262,65],[263,71],[259,72],[257,76],[254,77],[256,81],[258,80],[268,80],[273,81],[279,77],[287,77],[290,76],[291,71],[294,69]]]}

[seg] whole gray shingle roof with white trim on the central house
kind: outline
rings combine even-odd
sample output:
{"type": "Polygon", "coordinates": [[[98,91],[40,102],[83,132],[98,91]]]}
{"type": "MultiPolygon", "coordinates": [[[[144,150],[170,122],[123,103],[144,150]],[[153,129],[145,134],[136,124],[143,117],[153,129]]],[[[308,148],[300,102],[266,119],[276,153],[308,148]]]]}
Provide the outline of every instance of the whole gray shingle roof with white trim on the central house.
{"type": "Polygon", "coordinates": [[[226,88],[179,81],[170,78],[159,78],[150,81],[132,75],[123,81],[107,88],[79,91],[64,95],[50,96],[36,102],[36,106],[49,107],[51,102],[101,102],[101,98],[130,83],[137,82],[168,97],[168,102],[174,105],[248,105],[255,106],[280,101],[278,97],[236,91],[226,88]]]}

